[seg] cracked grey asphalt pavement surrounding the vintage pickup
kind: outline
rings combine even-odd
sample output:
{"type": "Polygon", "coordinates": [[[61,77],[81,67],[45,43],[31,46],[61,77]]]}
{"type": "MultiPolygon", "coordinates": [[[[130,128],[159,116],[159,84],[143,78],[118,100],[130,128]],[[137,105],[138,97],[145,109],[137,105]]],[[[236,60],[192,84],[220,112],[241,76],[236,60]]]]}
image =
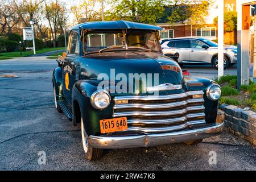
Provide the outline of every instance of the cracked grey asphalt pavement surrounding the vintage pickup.
{"type": "MultiPolygon", "coordinates": [[[[52,90],[56,61],[44,57],[0,60],[0,170],[256,170],[256,148],[222,133],[197,146],[172,144],[150,148],[108,150],[88,162],[80,126],[57,113],[52,90]],[[46,164],[40,165],[40,151],[46,164]],[[216,164],[209,164],[211,151],[216,164]]],[[[209,67],[188,67],[191,75],[213,78],[209,67]]],[[[228,69],[236,74],[236,67],[228,69]]]]}

